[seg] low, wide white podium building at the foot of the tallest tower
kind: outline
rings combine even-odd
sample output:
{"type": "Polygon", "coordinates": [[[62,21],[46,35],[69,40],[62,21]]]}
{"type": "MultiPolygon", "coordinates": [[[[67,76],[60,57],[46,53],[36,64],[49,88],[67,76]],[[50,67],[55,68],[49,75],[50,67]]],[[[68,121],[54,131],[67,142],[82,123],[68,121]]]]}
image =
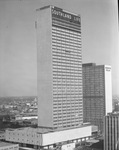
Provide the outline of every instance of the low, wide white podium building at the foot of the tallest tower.
{"type": "MultiPolygon", "coordinates": [[[[83,125],[78,128],[53,131],[46,128],[7,129],[5,140],[19,144],[30,144],[35,148],[48,148],[53,145],[64,145],[67,142],[81,142],[92,136],[92,126],[83,125]]],[[[24,145],[25,146],[25,145],[24,145]]]]}

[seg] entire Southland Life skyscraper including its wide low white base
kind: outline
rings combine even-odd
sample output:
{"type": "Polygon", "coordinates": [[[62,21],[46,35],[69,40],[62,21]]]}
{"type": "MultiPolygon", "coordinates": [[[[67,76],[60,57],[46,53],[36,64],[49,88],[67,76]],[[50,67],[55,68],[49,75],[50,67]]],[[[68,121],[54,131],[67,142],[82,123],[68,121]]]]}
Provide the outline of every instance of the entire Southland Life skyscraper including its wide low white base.
{"type": "Polygon", "coordinates": [[[73,149],[97,132],[83,124],[80,16],[37,9],[38,127],[6,130],[5,140],[35,149],[73,149]]]}

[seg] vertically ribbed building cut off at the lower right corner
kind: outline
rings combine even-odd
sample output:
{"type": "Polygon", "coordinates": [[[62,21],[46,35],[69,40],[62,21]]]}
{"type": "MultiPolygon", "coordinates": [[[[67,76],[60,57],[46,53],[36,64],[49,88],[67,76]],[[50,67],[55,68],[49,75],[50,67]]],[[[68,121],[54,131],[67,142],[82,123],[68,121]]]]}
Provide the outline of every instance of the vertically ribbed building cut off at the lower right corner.
{"type": "Polygon", "coordinates": [[[119,114],[104,117],[104,150],[119,150],[119,114]]]}

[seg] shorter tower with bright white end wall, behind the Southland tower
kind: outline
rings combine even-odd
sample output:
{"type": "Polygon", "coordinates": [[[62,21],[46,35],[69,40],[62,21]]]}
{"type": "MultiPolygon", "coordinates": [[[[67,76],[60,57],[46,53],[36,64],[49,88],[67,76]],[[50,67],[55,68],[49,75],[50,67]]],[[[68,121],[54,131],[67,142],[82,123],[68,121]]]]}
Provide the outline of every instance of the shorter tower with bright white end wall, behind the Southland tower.
{"type": "Polygon", "coordinates": [[[84,122],[103,130],[103,116],[112,112],[111,67],[83,64],[84,122]]]}

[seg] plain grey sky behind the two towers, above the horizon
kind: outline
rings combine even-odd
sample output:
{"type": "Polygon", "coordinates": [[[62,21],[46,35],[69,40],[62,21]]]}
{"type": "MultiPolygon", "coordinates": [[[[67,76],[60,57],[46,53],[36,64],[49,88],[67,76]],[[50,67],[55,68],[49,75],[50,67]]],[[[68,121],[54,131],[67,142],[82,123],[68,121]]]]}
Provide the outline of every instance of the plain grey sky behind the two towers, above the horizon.
{"type": "Polygon", "coordinates": [[[37,95],[36,9],[46,5],[81,15],[82,62],[111,65],[119,95],[117,0],[0,0],[0,97],[37,95]]]}

